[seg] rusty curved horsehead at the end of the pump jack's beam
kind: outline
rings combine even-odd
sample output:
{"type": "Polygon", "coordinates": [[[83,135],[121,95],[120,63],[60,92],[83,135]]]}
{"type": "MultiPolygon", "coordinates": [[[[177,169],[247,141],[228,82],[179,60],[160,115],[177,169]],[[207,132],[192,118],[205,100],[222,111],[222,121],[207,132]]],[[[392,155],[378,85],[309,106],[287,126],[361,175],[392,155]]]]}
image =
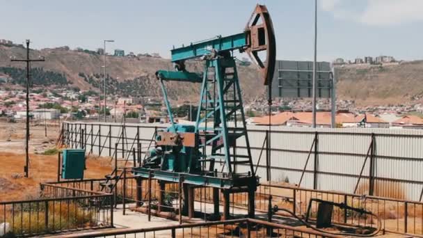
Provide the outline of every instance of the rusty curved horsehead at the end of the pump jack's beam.
{"type": "Polygon", "coordinates": [[[245,31],[250,33],[247,39],[250,47],[244,50],[257,64],[264,79],[264,85],[269,85],[276,66],[276,39],[273,23],[266,6],[259,4],[255,6],[245,31]],[[266,58],[260,58],[259,51],[266,51],[266,58]]]}

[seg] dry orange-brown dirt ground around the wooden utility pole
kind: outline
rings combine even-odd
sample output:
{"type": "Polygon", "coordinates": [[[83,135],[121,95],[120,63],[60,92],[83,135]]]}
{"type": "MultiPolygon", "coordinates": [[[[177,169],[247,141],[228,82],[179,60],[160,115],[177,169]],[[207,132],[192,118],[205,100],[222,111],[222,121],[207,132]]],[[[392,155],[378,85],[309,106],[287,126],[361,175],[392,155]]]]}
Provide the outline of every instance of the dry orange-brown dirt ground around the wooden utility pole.
{"type": "MultiPolygon", "coordinates": [[[[0,201],[23,200],[38,195],[40,182],[56,180],[57,154],[44,155],[45,150],[55,148],[58,127],[31,126],[29,144],[29,177],[24,177],[25,125],[0,122],[0,201]]],[[[88,157],[86,178],[102,178],[111,173],[111,161],[107,158],[88,157]]]]}

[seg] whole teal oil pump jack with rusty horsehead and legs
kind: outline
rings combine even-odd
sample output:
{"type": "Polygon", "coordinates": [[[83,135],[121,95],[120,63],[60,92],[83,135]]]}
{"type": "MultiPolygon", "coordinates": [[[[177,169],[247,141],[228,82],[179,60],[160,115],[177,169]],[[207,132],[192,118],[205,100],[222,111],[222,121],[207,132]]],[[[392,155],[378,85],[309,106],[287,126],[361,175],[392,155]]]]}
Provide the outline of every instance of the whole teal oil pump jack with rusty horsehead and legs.
{"type": "Polygon", "coordinates": [[[147,152],[141,166],[133,172],[144,179],[159,180],[161,184],[183,182],[183,213],[188,212],[190,216],[195,187],[213,188],[215,214],[219,214],[218,189],[221,190],[223,219],[229,216],[230,194],[247,192],[248,216],[255,215],[254,194],[259,177],[253,169],[237,63],[233,56],[235,50],[248,54],[260,70],[264,85],[271,84],[276,40],[266,6],[255,6],[241,33],[174,47],[171,56],[175,71],[156,72],[171,125],[155,134],[155,147],[147,152]],[[264,53],[265,58],[262,57],[264,53]],[[202,60],[204,72],[188,72],[186,61],[191,59],[202,60]],[[175,123],[165,81],[201,84],[195,126],[175,123]],[[244,154],[240,154],[237,145],[245,148],[244,154]]]}

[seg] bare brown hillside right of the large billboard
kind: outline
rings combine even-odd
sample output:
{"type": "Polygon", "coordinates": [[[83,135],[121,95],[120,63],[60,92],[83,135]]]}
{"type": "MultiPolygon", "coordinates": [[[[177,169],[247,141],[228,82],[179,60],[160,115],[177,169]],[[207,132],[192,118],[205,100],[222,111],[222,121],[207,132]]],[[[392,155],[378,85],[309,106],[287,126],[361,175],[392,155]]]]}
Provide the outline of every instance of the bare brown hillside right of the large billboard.
{"type": "Polygon", "coordinates": [[[339,99],[360,106],[423,100],[423,61],[371,68],[337,68],[339,99]]]}

